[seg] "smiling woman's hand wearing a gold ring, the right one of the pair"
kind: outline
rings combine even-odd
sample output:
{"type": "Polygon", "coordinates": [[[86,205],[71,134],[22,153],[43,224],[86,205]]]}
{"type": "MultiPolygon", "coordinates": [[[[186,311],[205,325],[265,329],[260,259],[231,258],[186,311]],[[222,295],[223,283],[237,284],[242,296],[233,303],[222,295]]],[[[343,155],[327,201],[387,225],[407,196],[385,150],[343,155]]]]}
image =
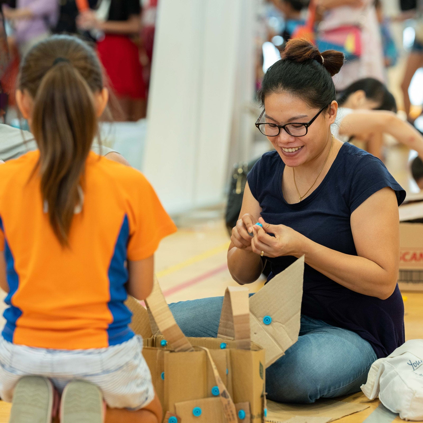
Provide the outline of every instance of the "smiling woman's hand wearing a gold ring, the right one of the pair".
{"type": "Polygon", "coordinates": [[[306,238],[301,233],[285,225],[270,225],[262,217],[258,221],[263,227],[253,225],[254,237],[250,237],[253,253],[261,255],[263,251],[266,257],[301,257],[304,254],[303,245],[306,238]]]}

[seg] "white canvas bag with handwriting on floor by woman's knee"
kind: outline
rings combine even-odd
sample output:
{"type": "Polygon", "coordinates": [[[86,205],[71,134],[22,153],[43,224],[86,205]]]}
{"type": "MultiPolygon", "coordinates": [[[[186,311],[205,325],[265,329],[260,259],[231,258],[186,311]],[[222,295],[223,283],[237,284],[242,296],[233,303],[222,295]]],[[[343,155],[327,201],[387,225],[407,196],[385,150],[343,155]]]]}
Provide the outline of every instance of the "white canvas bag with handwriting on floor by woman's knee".
{"type": "Polygon", "coordinates": [[[423,420],[423,339],[412,339],[386,358],[376,360],[361,390],[369,399],[379,396],[404,420],[423,420]]]}

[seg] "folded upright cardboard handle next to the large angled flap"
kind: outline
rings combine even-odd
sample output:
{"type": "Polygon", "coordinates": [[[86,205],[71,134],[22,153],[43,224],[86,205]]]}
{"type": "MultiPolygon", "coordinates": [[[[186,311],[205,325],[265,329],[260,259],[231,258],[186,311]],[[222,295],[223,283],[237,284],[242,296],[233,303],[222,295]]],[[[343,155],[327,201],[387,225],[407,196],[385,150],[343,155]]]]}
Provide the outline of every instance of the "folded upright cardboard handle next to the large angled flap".
{"type": "Polygon", "coordinates": [[[217,338],[234,339],[239,349],[250,349],[248,288],[229,286],[223,297],[217,338]]]}

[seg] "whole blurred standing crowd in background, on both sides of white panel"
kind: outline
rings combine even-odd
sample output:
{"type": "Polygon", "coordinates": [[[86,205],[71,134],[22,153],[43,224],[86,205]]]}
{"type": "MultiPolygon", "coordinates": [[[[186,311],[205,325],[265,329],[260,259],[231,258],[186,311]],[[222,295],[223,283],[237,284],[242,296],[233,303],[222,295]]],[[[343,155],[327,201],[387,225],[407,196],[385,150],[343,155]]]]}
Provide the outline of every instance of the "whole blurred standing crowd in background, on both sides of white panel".
{"type": "MultiPolygon", "coordinates": [[[[22,55],[49,34],[71,33],[96,44],[119,105],[113,109],[112,104],[113,120],[137,121],[146,116],[158,0],[1,0],[1,3],[3,115],[6,110],[13,110],[13,90],[22,55]]],[[[420,115],[423,0],[264,0],[260,10],[257,89],[264,72],[280,58],[279,52],[292,36],[313,37],[320,50],[335,48],[344,52],[346,64],[334,78],[339,91],[366,77],[386,83],[387,70],[396,66],[405,51],[407,64],[400,81],[403,105],[399,108],[412,123],[420,115]],[[392,13],[385,16],[386,3],[398,3],[396,16],[392,13]],[[403,22],[402,39],[392,31],[392,25],[398,22],[403,22]],[[417,92],[409,89],[416,75],[417,92]],[[409,91],[415,92],[411,101],[409,91]]],[[[11,113],[6,120],[13,117],[11,113]]]]}

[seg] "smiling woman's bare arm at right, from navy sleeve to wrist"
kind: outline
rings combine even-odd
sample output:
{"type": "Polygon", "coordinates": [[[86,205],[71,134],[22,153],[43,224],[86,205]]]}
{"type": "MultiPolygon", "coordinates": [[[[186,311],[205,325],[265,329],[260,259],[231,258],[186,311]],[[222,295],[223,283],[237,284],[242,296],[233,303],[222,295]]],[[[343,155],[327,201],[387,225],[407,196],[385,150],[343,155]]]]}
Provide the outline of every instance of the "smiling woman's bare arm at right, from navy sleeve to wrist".
{"type": "Polygon", "coordinates": [[[386,187],[351,215],[357,256],[307,239],[305,262],[352,291],[386,299],[393,293],[399,266],[399,217],[395,192],[386,187]]]}

